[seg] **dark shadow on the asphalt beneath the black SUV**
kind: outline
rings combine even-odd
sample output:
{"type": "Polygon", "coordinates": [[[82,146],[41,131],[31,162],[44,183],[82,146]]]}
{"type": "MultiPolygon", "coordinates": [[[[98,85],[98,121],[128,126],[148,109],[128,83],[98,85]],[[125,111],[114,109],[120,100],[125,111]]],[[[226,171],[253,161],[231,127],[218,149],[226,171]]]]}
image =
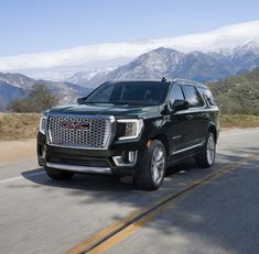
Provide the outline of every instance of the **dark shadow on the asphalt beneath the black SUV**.
{"type": "MultiPolygon", "coordinates": [[[[255,147],[251,148],[255,152],[255,147]]],[[[248,152],[248,150],[247,150],[248,152]]],[[[74,190],[84,190],[84,191],[97,191],[104,192],[104,198],[111,198],[112,192],[119,191],[123,194],[130,192],[139,192],[139,194],[155,194],[153,196],[158,196],[160,192],[161,195],[171,190],[172,187],[177,187],[180,185],[184,185],[186,179],[191,181],[192,179],[198,179],[217,168],[220,168],[224,165],[227,165],[230,162],[235,162],[239,158],[236,155],[224,155],[217,154],[217,158],[215,165],[212,168],[199,168],[195,159],[190,158],[180,164],[171,166],[166,169],[165,180],[163,186],[160,190],[157,191],[141,191],[134,188],[132,185],[132,177],[115,177],[110,175],[79,175],[75,174],[75,176],[71,180],[53,180],[48,178],[43,168],[37,168],[34,170],[23,172],[22,176],[28,180],[42,185],[42,186],[50,186],[50,187],[57,187],[57,188],[66,188],[66,189],[74,189],[74,190]],[[36,174],[41,173],[42,174],[36,174]],[[171,184],[170,184],[171,183],[171,184]],[[107,197],[110,196],[110,197],[107,197]]],[[[84,195],[84,191],[77,192],[84,195]]]]}

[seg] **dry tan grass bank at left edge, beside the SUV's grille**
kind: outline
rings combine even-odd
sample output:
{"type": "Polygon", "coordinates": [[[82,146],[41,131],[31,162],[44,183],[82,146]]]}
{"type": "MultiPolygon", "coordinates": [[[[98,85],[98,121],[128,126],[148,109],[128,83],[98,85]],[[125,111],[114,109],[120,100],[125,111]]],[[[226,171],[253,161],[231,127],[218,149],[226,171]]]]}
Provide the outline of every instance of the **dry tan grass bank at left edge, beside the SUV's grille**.
{"type": "Polygon", "coordinates": [[[0,140],[36,137],[39,113],[0,113],[0,140]]]}

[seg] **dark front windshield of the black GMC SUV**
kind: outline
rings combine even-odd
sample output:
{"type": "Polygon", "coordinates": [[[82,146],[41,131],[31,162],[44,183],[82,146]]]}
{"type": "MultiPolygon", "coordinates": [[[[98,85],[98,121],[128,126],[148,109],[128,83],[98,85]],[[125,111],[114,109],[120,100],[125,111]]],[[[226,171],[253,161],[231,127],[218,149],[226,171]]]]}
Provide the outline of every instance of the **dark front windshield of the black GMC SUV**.
{"type": "Polygon", "coordinates": [[[160,81],[127,81],[104,84],[86,98],[85,103],[150,104],[163,103],[169,84],[160,81]]]}

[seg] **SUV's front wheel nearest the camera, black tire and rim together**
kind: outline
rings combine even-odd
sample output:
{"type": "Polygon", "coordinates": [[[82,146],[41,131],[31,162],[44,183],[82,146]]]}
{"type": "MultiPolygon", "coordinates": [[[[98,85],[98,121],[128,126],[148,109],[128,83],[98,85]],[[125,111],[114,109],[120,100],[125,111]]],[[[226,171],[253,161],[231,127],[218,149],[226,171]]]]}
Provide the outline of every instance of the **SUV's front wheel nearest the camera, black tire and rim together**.
{"type": "Polygon", "coordinates": [[[138,189],[155,190],[162,185],[166,169],[166,153],[161,141],[154,140],[148,147],[142,167],[133,177],[138,189]]]}

